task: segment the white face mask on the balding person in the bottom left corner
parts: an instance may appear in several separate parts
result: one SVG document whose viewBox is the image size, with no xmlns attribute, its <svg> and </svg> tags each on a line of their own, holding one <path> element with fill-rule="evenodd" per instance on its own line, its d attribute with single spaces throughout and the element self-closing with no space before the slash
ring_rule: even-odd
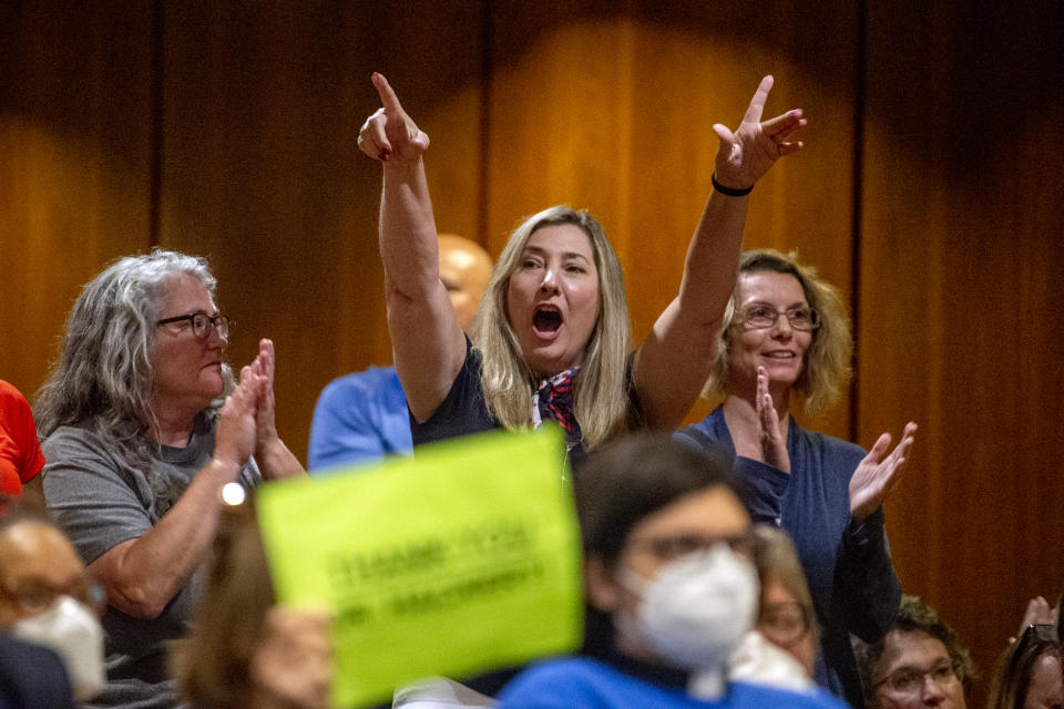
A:
<svg viewBox="0 0 1064 709">
<path fill-rule="evenodd" d="M 17 621 L 11 630 L 62 658 L 75 700 L 89 699 L 103 689 L 103 628 L 75 599 L 60 596 L 47 610 Z"/>
</svg>

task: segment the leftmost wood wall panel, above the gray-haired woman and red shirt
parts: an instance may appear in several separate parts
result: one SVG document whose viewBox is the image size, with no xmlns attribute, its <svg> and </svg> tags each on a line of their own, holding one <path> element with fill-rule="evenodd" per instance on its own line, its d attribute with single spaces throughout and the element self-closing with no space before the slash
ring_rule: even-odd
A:
<svg viewBox="0 0 1064 709">
<path fill-rule="evenodd" d="M 81 285 L 150 244 L 151 8 L 0 9 L 0 378 L 28 398 Z"/>
</svg>

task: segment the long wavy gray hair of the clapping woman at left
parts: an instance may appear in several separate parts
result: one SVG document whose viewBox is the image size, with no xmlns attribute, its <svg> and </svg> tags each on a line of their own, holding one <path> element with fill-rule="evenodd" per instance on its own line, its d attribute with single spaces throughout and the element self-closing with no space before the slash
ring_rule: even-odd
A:
<svg viewBox="0 0 1064 709">
<path fill-rule="evenodd" d="M 186 274 L 214 297 L 207 261 L 161 248 L 111 263 L 89 281 L 66 318 L 59 361 L 37 393 L 33 417 L 47 438 L 62 425 L 84 425 L 130 463 L 143 464 L 154 444 L 144 435 L 151 410 L 158 321 L 171 282 Z M 226 390 L 233 373 L 223 366 Z M 197 417 L 204 424 L 224 398 Z"/>
</svg>

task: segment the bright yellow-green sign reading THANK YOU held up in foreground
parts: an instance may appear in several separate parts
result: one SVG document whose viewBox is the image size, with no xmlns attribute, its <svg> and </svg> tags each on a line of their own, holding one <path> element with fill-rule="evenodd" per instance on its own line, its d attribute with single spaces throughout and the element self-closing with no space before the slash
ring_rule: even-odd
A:
<svg viewBox="0 0 1064 709">
<path fill-rule="evenodd" d="M 263 486 L 278 600 L 334 613 L 336 706 L 579 646 L 580 533 L 565 465 L 561 432 L 548 427 Z"/>
</svg>

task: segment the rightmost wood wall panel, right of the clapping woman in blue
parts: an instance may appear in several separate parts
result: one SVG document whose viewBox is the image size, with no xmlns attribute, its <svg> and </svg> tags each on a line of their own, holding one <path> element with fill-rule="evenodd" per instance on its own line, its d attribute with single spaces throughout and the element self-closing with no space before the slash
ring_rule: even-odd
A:
<svg viewBox="0 0 1064 709">
<path fill-rule="evenodd" d="M 1047 258 L 1064 246 L 1064 168 L 1045 160 L 1062 19 L 1052 2 L 869 14 L 860 430 L 921 423 L 888 504 L 896 563 L 988 674 L 1026 600 L 1064 579 Z"/>
</svg>

